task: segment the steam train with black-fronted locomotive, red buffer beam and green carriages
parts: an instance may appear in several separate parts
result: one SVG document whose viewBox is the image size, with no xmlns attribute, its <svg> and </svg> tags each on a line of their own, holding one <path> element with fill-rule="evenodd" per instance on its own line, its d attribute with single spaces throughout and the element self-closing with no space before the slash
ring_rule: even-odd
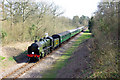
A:
<svg viewBox="0 0 120 80">
<path fill-rule="evenodd" d="M 63 44 L 65 41 L 69 40 L 70 38 L 74 37 L 84 30 L 85 27 L 82 26 L 76 29 L 41 38 L 39 41 L 35 40 L 35 42 L 28 47 L 28 60 L 40 60 L 41 58 L 45 57 L 53 50 L 55 50 L 57 47 L 60 47 L 61 44 Z"/>
</svg>

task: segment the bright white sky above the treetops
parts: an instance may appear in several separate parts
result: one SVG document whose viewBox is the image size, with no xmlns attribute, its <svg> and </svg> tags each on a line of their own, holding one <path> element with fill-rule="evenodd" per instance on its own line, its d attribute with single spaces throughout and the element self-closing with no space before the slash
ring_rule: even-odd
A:
<svg viewBox="0 0 120 80">
<path fill-rule="evenodd" d="M 101 0 L 41 0 L 54 2 L 63 9 L 63 16 L 73 18 L 73 16 L 81 15 L 91 17 L 92 13 L 97 10 L 97 4 Z"/>
</svg>

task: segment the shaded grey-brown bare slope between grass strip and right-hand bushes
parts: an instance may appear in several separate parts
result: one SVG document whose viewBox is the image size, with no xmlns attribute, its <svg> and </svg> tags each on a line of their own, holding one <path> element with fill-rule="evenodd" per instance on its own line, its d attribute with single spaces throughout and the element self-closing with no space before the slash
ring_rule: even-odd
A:
<svg viewBox="0 0 120 80">
<path fill-rule="evenodd" d="M 57 78 L 87 78 L 92 74 L 94 62 L 90 54 L 92 39 L 79 45 L 77 50 L 69 58 L 65 67 L 60 69 Z M 63 75 L 64 74 L 64 75 Z"/>
</svg>

